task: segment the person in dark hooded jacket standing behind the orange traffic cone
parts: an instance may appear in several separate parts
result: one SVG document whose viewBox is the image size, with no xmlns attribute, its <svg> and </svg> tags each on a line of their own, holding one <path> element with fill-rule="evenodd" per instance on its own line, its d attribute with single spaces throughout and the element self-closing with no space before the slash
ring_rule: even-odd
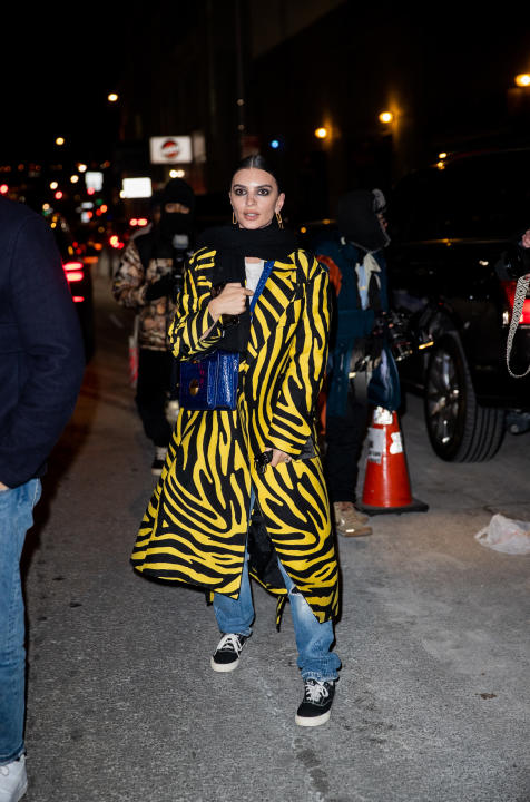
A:
<svg viewBox="0 0 530 802">
<path fill-rule="evenodd" d="M 335 237 L 316 246 L 330 272 L 333 326 L 325 412 L 326 479 L 335 526 L 344 537 L 372 534 L 355 507 L 359 460 L 369 422 L 369 384 L 381 360 L 387 312 L 385 198 L 356 189 L 338 199 Z"/>
</svg>

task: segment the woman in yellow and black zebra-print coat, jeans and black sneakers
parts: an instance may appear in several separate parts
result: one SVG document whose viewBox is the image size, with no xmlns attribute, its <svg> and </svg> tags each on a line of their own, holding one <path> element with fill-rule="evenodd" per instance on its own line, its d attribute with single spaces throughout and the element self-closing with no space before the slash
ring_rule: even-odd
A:
<svg viewBox="0 0 530 802">
<path fill-rule="evenodd" d="M 214 671 L 233 671 L 252 634 L 249 574 L 281 602 L 288 594 L 305 683 L 296 722 L 312 726 L 330 717 L 340 667 L 331 651 L 338 569 L 315 419 L 328 277 L 278 228 L 284 195 L 261 156 L 242 163 L 229 197 L 234 226 L 206 233 L 209 244 L 192 257 L 169 336 L 183 361 L 232 339 L 237 410 L 180 411 L 131 560 L 147 576 L 208 591 L 223 633 Z M 219 276 L 228 281 L 213 297 Z M 232 315 L 238 325 L 227 329 Z"/>
</svg>

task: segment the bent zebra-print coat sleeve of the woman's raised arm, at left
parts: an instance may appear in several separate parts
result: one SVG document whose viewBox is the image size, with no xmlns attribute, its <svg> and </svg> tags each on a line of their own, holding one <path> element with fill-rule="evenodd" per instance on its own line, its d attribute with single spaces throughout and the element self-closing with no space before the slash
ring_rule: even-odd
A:
<svg viewBox="0 0 530 802">
<path fill-rule="evenodd" d="M 220 319 L 214 324 L 208 312 L 212 299 L 210 268 L 214 253 L 202 248 L 195 253 L 187 265 L 183 292 L 179 295 L 177 312 L 169 326 L 169 345 L 175 356 L 186 362 L 218 345 L 224 331 Z M 208 329 L 212 331 L 204 336 Z"/>
</svg>

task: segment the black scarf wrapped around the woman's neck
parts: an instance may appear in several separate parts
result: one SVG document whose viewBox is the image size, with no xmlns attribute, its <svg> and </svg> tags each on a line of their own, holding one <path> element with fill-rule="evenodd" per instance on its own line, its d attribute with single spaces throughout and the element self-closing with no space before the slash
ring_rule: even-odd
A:
<svg viewBox="0 0 530 802">
<path fill-rule="evenodd" d="M 266 228 L 238 228 L 236 226 L 215 226 L 207 228 L 197 243 L 198 247 L 215 248 L 213 284 L 239 282 L 245 286 L 245 258 L 254 256 L 265 262 L 286 262 L 298 247 L 293 233 L 271 224 Z M 223 349 L 245 353 L 251 332 L 249 305 L 238 315 L 237 325 L 225 331 Z"/>
</svg>

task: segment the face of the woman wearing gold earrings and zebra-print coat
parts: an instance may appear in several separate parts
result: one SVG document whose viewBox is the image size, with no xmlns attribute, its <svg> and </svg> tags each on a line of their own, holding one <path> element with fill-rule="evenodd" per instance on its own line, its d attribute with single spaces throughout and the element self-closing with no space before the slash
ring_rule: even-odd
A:
<svg viewBox="0 0 530 802">
<path fill-rule="evenodd" d="M 271 173 L 251 167 L 238 170 L 229 192 L 239 228 L 264 228 L 284 205 L 285 195 Z"/>
</svg>

